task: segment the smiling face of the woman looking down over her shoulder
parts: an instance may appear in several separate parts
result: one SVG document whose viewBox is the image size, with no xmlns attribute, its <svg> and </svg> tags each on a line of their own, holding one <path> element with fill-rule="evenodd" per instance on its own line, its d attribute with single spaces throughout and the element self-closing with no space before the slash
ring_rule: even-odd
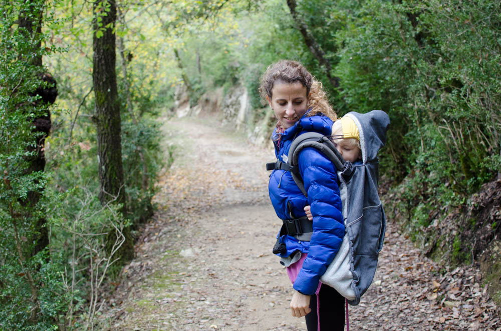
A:
<svg viewBox="0 0 501 331">
<path fill-rule="evenodd" d="M 275 82 L 272 97 L 267 95 L 266 99 L 284 129 L 293 126 L 305 114 L 308 106 L 306 87 L 299 81 Z"/>
</svg>

